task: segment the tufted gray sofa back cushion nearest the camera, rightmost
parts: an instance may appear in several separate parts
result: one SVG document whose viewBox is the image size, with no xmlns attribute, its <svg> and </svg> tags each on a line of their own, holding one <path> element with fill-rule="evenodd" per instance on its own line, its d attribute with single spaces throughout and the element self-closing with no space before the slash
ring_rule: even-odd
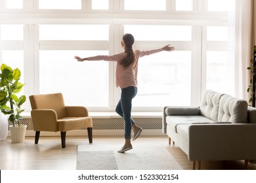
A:
<svg viewBox="0 0 256 183">
<path fill-rule="evenodd" d="M 247 101 L 223 95 L 219 105 L 218 122 L 247 123 L 247 107 Z"/>
</svg>

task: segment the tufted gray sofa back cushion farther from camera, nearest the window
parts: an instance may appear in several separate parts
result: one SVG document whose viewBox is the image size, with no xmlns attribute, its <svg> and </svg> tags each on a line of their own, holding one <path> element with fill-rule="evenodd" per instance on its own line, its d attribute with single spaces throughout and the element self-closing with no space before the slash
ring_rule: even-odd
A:
<svg viewBox="0 0 256 183">
<path fill-rule="evenodd" d="M 201 102 L 201 115 L 218 121 L 218 112 L 219 112 L 219 102 L 223 93 L 213 92 L 212 90 L 206 90 L 203 93 L 202 102 Z"/>
</svg>

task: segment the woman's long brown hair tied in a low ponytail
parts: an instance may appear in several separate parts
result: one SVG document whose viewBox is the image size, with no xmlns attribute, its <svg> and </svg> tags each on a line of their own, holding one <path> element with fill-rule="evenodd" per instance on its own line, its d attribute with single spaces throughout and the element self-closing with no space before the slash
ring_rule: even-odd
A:
<svg viewBox="0 0 256 183">
<path fill-rule="evenodd" d="M 120 65 L 123 66 L 123 68 L 127 68 L 129 67 L 131 64 L 135 63 L 135 51 L 133 50 L 133 43 L 134 43 L 135 39 L 133 37 L 133 35 L 131 34 L 125 34 L 123 35 L 123 43 L 125 44 L 125 53 L 127 54 L 127 56 L 125 56 L 125 58 L 123 58 L 120 61 Z"/>
</svg>

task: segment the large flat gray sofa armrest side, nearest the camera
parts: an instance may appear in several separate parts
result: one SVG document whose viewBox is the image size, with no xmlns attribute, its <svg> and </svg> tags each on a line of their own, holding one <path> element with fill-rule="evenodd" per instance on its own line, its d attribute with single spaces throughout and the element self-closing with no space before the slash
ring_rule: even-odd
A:
<svg viewBox="0 0 256 183">
<path fill-rule="evenodd" d="M 256 159 L 256 124 L 194 124 L 188 129 L 188 159 Z"/>
</svg>

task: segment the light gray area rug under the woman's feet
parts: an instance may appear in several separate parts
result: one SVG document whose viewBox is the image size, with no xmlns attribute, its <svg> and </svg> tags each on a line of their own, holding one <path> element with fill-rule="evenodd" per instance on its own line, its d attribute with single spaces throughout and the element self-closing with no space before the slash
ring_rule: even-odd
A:
<svg viewBox="0 0 256 183">
<path fill-rule="evenodd" d="M 116 151 L 113 151 L 116 149 Z M 165 146 L 144 146 L 125 153 L 109 146 L 103 149 L 97 144 L 77 146 L 77 169 L 119 170 L 182 170 L 181 165 Z"/>
</svg>

